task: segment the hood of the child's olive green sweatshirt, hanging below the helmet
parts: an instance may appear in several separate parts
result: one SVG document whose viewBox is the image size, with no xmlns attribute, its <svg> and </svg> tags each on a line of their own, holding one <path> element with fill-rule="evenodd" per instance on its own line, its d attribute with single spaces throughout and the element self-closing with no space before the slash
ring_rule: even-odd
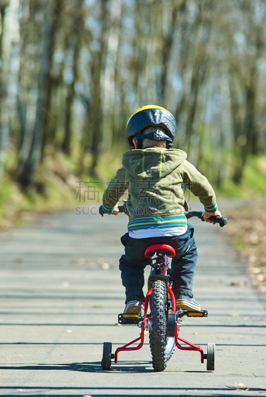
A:
<svg viewBox="0 0 266 397">
<path fill-rule="evenodd" d="M 161 179 L 172 173 L 185 159 L 183 150 L 150 147 L 125 152 L 122 165 L 136 179 Z"/>
</svg>

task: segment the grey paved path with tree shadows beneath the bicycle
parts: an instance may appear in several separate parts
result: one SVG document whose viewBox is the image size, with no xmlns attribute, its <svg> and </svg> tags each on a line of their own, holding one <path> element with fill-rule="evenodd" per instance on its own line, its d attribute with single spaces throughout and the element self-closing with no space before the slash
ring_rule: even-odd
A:
<svg viewBox="0 0 266 397">
<path fill-rule="evenodd" d="M 194 294 L 209 317 L 185 319 L 180 336 L 204 351 L 215 342 L 215 371 L 176 350 L 154 372 L 148 337 L 101 370 L 103 341 L 114 350 L 139 335 L 116 325 L 126 221 L 73 211 L 0 233 L 0 396 L 266 396 L 266 299 L 225 231 L 197 219 Z"/>
</svg>

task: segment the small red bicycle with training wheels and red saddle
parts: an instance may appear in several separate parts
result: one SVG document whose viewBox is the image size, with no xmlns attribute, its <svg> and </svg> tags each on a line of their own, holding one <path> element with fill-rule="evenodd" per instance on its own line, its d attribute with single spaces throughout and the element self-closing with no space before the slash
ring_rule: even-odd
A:
<svg viewBox="0 0 266 397">
<path fill-rule="evenodd" d="M 126 200 L 124 205 L 118 206 L 119 212 L 127 214 Z M 99 213 L 103 216 L 103 209 L 99 208 Z M 186 214 L 187 219 L 198 217 L 202 221 L 202 211 L 191 211 Z M 227 217 L 223 215 L 212 216 L 212 221 L 217 222 L 221 227 L 227 224 Z M 200 346 L 181 338 L 179 336 L 180 324 L 182 317 L 207 317 L 208 312 L 184 311 L 176 308 L 176 300 L 172 292 L 171 270 L 169 268 L 168 258 L 173 258 L 176 251 L 173 247 L 166 244 L 155 244 L 147 247 L 145 257 L 151 259 L 152 270 L 148 278 L 148 292 L 144 301 L 144 315 L 137 314 L 119 314 L 118 324 L 138 325 L 141 329 L 140 336 L 125 345 L 118 347 L 115 353 L 112 353 L 112 343 L 103 343 L 103 352 L 101 367 L 108 371 L 111 368 L 111 360 L 117 363 L 118 353 L 121 351 L 138 350 L 143 346 L 145 331 L 149 332 L 149 344 L 152 355 L 152 365 L 155 371 L 164 371 L 167 362 L 172 357 L 175 347 L 180 350 L 199 351 L 201 363 L 207 361 L 207 371 L 214 371 L 215 343 L 207 343 L 207 353 L 203 353 Z M 150 306 L 150 313 L 148 307 Z M 139 342 L 137 346 L 132 346 Z M 182 342 L 183 344 L 180 344 Z"/>
</svg>

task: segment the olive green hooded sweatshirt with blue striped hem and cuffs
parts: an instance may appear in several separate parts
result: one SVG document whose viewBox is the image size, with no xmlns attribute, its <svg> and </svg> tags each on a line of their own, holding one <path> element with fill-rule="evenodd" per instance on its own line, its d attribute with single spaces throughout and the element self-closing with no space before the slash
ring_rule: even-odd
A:
<svg viewBox="0 0 266 397">
<path fill-rule="evenodd" d="M 126 151 L 122 167 L 103 193 L 102 206 L 105 212 L 112 212 L 128 190 L 128 231 L 184 226 L 188 211 L 184 185 L 199 198 L 205 211 L 218 208 L 213 188 L 186 160 L 184 151 L 160 147 Z"/>
</svg>

